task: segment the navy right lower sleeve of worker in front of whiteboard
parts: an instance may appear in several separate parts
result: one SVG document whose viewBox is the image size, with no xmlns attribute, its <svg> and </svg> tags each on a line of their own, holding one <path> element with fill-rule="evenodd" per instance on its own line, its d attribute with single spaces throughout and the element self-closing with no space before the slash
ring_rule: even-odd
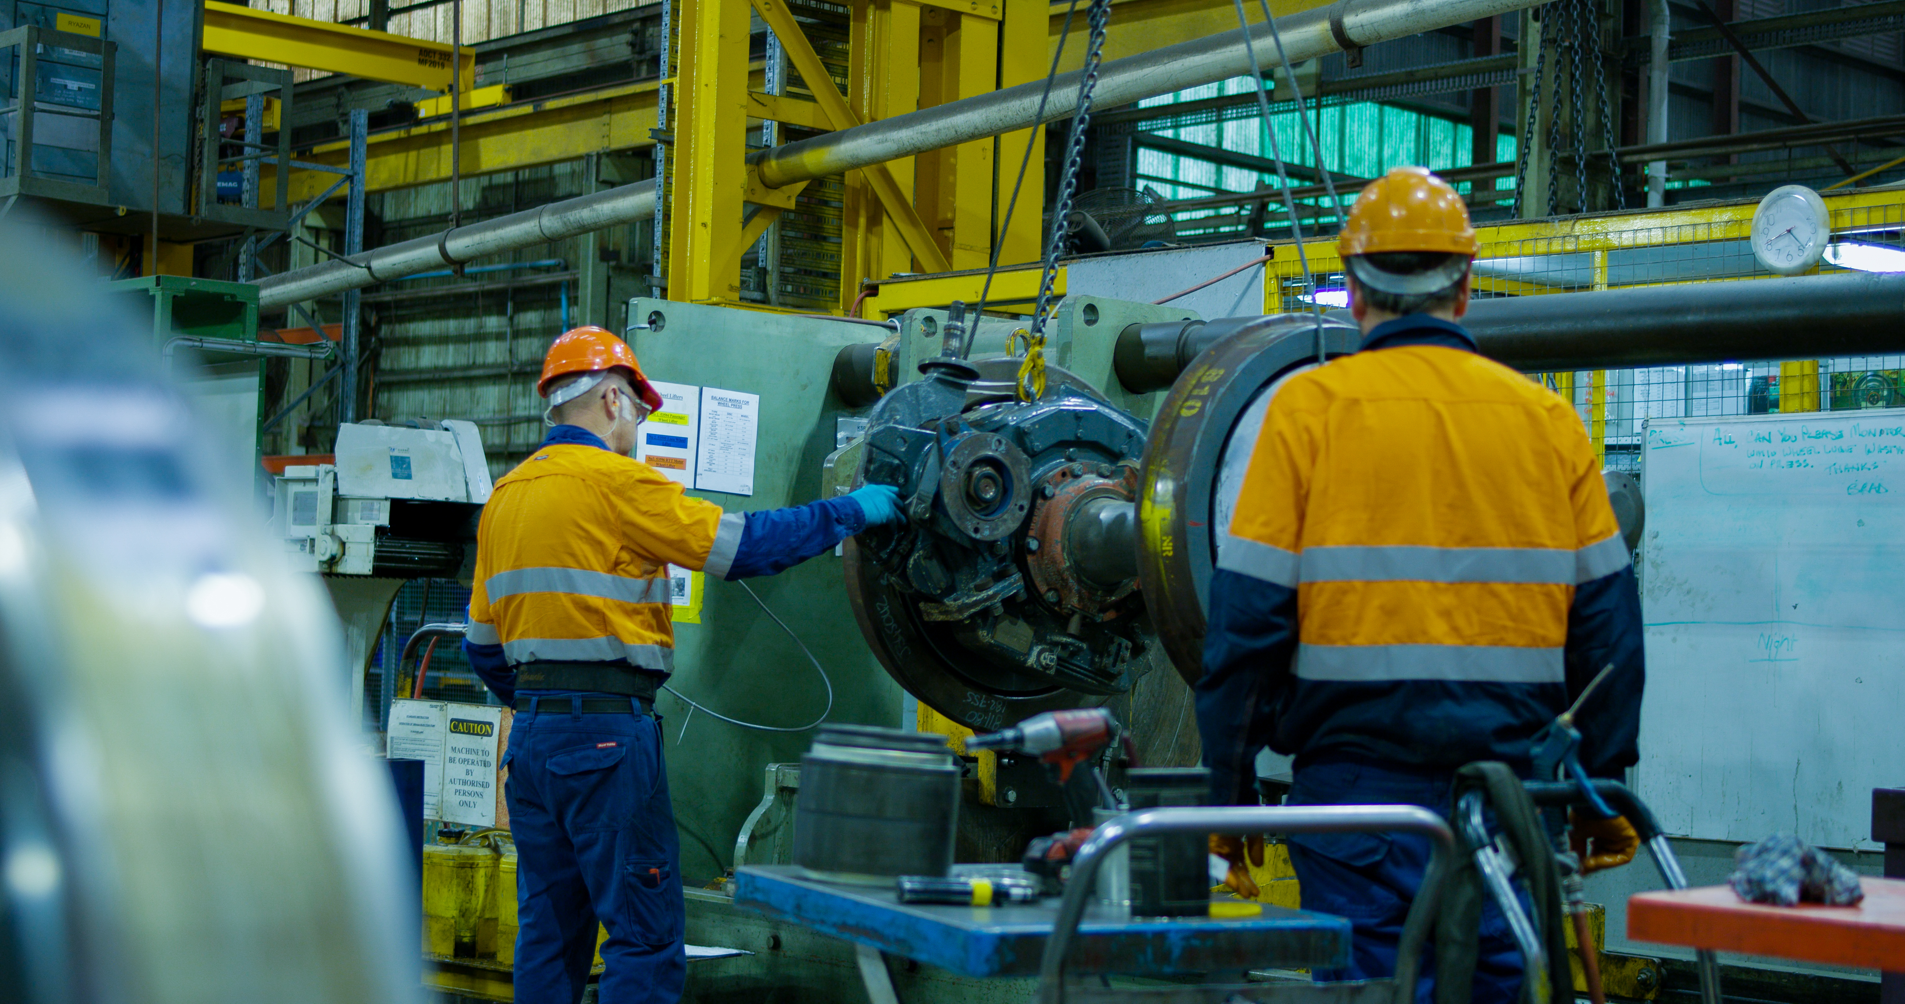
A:
<svg viewBox="0 0 1905 1004">
<path fill-rule="evenodd" d="M 1574 703 L 1602 667 L 1614 673 L 1594 688 L 1574 724 L 1581 730 L 1581 766 L 1593 777 L 1619 779 L 1640 760 L 1640 692 L 1648 682 L 1634 568 L 1574 589 L 1568 610 L 1568 701 Z"/>
</svg>

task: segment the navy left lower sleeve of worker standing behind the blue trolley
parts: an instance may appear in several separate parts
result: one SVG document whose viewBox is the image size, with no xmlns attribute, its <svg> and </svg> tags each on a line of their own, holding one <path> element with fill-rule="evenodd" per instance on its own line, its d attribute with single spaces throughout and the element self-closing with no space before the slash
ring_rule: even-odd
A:
<svg viewBox="0 0 1905 1004">
<path fill-rule="evenodd" d="M 1269 745 L 1295 648 L 1295 589 L 1225 570 L 1212 575 L 1204 676 L 1194 690 L 1213 806 L 1257 804 L 1257 751 Z"/>
</svg>

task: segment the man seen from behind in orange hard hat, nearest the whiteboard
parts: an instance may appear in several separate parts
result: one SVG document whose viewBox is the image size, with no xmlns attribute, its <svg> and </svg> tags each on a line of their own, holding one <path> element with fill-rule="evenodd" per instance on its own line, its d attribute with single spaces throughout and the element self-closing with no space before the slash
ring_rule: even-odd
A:
<svg viewBox="0 0 1905 1004">
<path fill-rule="evenodd" d="M 1255 442 L 1233 444 L 1250 469 L 1219 535 L 1196 684 L 1213 796 L 1255 802 L 1269 749 L 1295 758 L 1290 804 L 1446 813 L 1465 764 L 1528 777 L 1534 735 L 1604 667 L 1575 713 L 1579 760 L 1621 777 L 1638 758 L 1640 596 L 1579 415 L 1457 324 L 1476 238 L 1448 183 L 1423 168 L 1372 181 L 1337 250 L 1362 349 L 1290 377 Z M 1574 836 L 1587 871 L 1638 848 L 1619 817 L 1575 819 Z M 1213 850 L 1248 892 L 1246 840 Z M 1290 857 L 1303 907 L 1354 930 L 1351 964 L 1316 977 L 1393 975 L 1427 838 L 1297 834 Z M 1520 985 L 1488 903 L 1473 996 L 1444 991 L 1509 1004 Z"/>
</svg>

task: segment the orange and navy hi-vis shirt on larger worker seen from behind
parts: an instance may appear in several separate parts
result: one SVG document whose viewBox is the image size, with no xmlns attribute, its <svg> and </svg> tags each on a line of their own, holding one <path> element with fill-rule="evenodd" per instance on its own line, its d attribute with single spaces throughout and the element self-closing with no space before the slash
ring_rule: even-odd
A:
<svg viewBox="0 0 1905 1004">
<path fill-rule="evenodd" d="M 1574 408 L 1412 314 L 1278 389 L 1210 587 L 1198 728 L 1217 798 L 1265 745 L 1505 760 L 1602 671 L 1581 764 L 1638 758 L 1640 596 Z"/>
</svg>

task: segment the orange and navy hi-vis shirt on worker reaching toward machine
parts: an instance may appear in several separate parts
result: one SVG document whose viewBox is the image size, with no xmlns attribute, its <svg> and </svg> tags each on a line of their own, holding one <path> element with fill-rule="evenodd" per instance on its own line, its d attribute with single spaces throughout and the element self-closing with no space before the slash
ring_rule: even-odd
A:
<svg viewBox="0 0 1905 1004">
<path fill-rule="evenodd" d="M 463 650 L 503 701 L 514 699 L 511 667 L 524 663 L 619 663 L 667 676 L 667 566 L 772 575 L 865 526 L 848 497 L 722 512 L 594 432 L 558 425 L 484 505 Z"/>
</svg>

